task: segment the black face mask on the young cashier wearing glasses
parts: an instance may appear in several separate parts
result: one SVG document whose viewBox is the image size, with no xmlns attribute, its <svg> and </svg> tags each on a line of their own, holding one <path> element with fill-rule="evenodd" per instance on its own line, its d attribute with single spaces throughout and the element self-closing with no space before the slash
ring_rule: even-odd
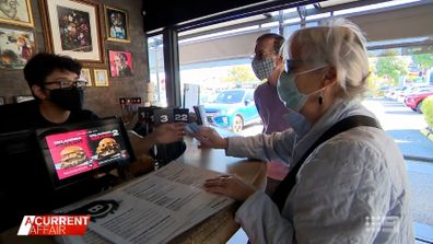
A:
<svg viewBox="0 0 433 244">
<path fill-rule="evenodd" d="M 50 91 L 49 100 L 66 111 L 80 111 L 83 108 L 84 94 L 79 88 L 55 89 Z"/>
</svg>

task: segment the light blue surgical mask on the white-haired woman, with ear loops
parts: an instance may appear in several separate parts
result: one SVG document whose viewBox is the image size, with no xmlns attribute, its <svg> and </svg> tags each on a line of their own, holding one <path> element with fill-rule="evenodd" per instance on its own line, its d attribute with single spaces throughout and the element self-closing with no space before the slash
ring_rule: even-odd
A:
<svg viewBox="0 0 433 244">
<path fill-rule="evenodd" d="M 281 73 L 280 79 L 278 80 L 277 83 L 277 92 L 278 95 L 280 96 L 281 102 L 284 103 L 285 107 L 295 112 L 300 112 L 301 108 L 305 105 L 305 102 L 307 101 L 308 96 L 316 94 L 325 89 L 323 88 L 309 94 L 303 94 L 300 91 L 297 91 L 296 84 L 294 82 L 296 77 L 323 69 L 326 66 L 320 66 L 318 68 L 305 70 L 299 73 L 288 73 L 285 71 Z"/>
</svg>

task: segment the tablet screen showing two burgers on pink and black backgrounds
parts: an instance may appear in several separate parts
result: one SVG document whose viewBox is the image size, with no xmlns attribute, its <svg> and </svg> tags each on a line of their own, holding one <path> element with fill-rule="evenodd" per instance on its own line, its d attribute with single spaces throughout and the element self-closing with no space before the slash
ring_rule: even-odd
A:
<svg viewBox="0 0 433 244">
<path fill-rule="evenodd" d="M 57 186 L 133 158 L 125 128 L 116 118 L 43 129 L 37 135 Z"/>
</svg>

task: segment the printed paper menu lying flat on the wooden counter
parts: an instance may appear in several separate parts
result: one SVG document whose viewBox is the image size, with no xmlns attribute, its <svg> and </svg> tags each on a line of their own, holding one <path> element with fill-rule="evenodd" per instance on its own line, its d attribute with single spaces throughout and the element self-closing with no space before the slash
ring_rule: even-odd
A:
<svg viewBox="0 0 433 244">
<path fill-rule="evenodd" d="M 230 206 L 230 198 L 206 193 L 216 172 L 172 162 L 115 190 L 58 212 L 92 216 L 89 230 L 113 243 L 166 243 Z"/>
</svg>

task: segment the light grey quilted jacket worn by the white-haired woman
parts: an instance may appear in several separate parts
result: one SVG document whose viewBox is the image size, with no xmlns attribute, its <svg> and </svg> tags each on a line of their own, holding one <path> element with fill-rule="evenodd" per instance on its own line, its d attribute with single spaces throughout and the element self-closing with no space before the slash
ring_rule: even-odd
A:
<svg viewBox="0 0 433 244">
<path fill-rule="evenodd" d="M 294 130 L 230 138 L 227 155 L 296 163 L 337 121 L 374 115 L 359 102 L 339 102 L 295 141 Z M 296 128 L 295 128 L 296 129 Z M 237 210 L 236 221 L 251 243 L 414 242 L 405 161 L 396 143 L 377 128 L 342 132 L 308 156 L 282 213 L 262 191 Z"/>
</svg>

